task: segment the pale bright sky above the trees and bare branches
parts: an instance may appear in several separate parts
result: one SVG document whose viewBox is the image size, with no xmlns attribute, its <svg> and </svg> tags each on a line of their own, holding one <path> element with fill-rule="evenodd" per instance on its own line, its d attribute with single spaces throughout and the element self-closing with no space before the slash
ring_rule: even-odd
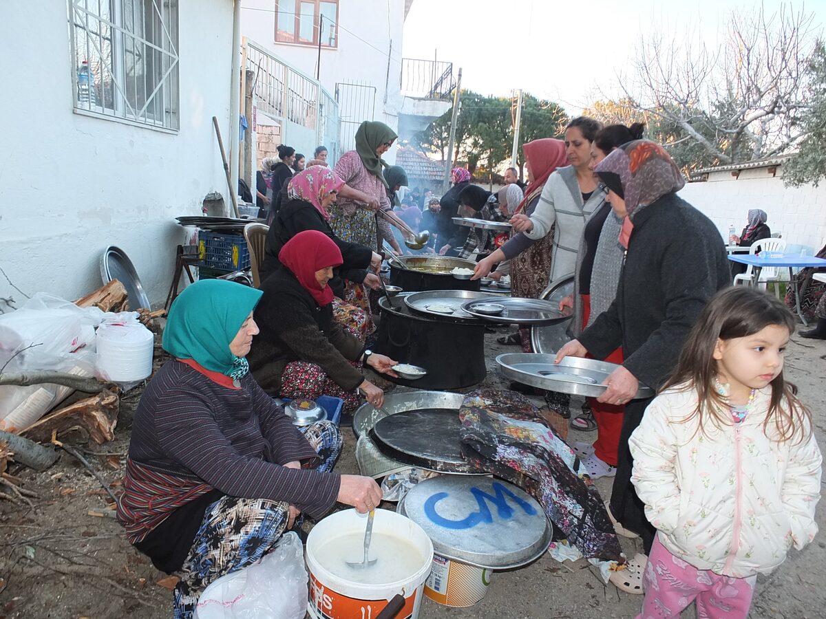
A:
<svg viewBox="0 0 826 619">
<path fill-rule="evenodd" d="M 781 4 L 763 2 L 767 13 Z M 812 27 L 823 34 L 826 0 L 786 4 L 814 13 Z M 643 32 L 676 42 L 701 37 L 713 48 L 732 13 L 758 6 L 743 0 L 414 0 L 402 55 L 453 62 L 454 73 L 463 69 L 463 89 L 509 97 L 522 88 L 572 114 L 621 96 L 618 76 L 631 68 Z"/>
</svg>

